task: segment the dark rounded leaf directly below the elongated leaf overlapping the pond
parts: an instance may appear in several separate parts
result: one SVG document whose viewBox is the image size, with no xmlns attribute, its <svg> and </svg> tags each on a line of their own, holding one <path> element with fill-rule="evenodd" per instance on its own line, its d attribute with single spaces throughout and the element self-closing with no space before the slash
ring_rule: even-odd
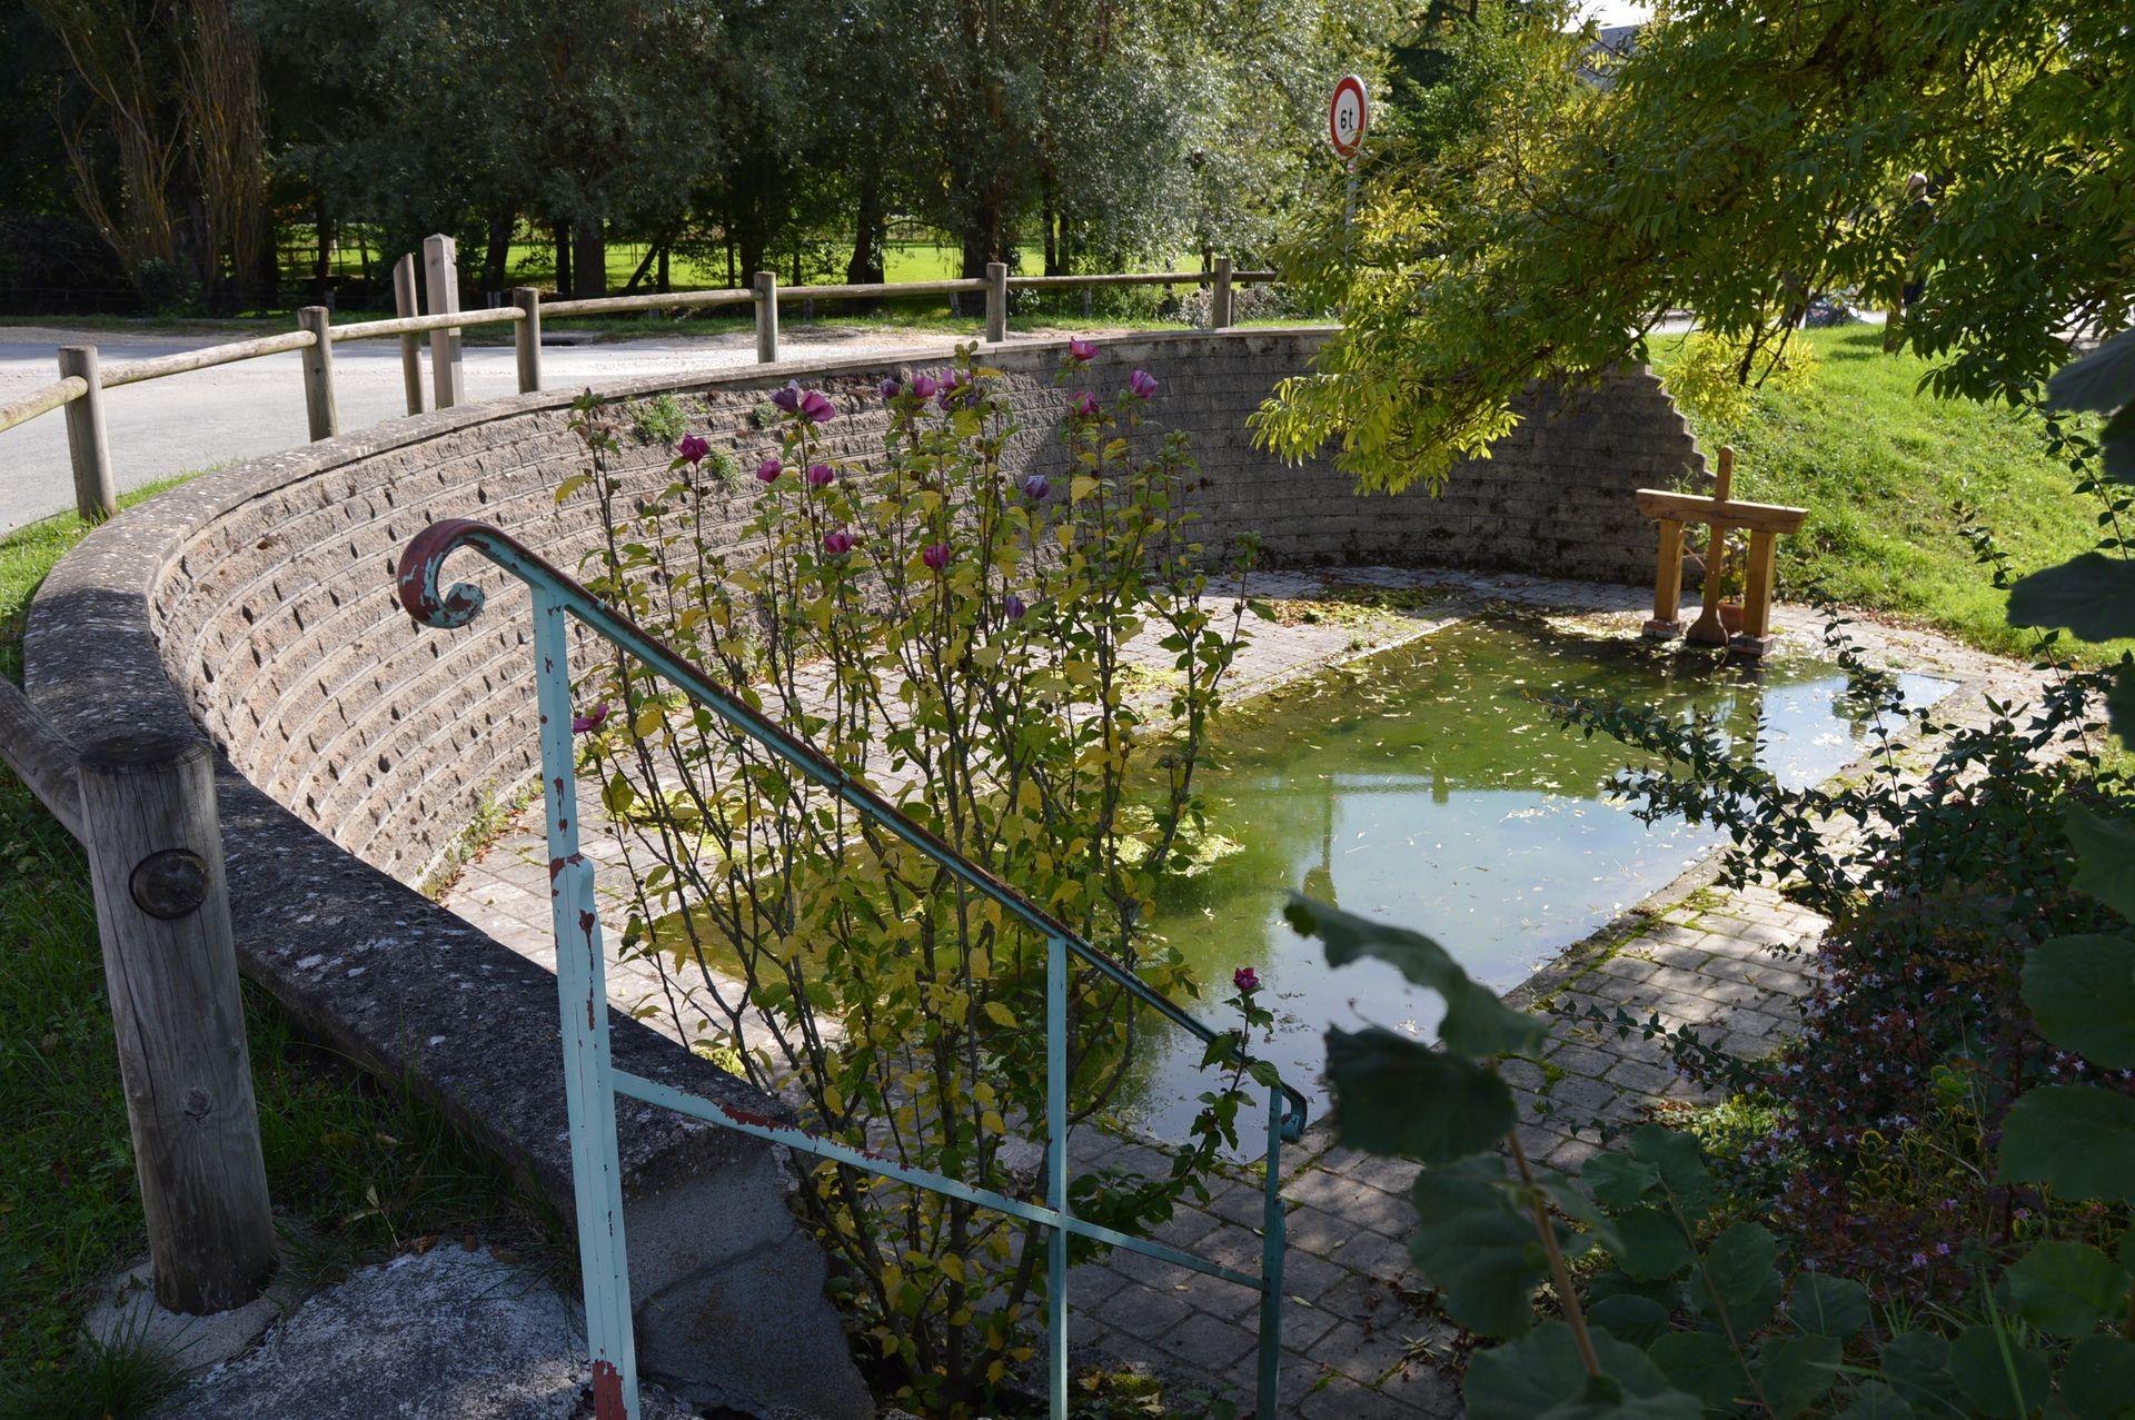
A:
<svg viewBox="0 0 2135 1420">
<path fill-rule="evenodd" d="M 1518 1119 L 1512 1087 L 1473 1059 L 1398 1031 L 1328 1031 L 1341 1138 L 1364 1153 L 1452 1164 L 1482 1153 Z"/>
</svg>

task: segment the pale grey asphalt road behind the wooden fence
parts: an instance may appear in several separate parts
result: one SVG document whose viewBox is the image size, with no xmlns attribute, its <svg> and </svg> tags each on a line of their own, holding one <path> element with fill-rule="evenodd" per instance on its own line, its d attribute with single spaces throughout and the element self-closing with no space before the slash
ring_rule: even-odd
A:
<svg viewBox="0 0 2135 1420">
<path fill-rule="evenodd" d="M 0 329 L 0 404 L 53 382 L 53 350 L 96 344 L 105 365 L 218 344 L 213 335 L 102 337 L 81 331 Z M 948 352 L 952 340 L 895 331 L 790 331 L 781 346 L 809 354 Z M 655 374 L 685 374 L 756 359 L 749 331 L 687 340 L 632 340 L 542 348 L 542 384 L 566 389 Z M 303 444 L 301 354 L 269 354 L 237 365 L 143 380 L 105 393 L 111 474 L 122 489 L 280 453 Z M 510 346 L 468 346 L 468 399 L 517 393 Z M 427 378 L 427 372 L 425 372 Z M 342 433 L 406 416 L 399 342 L 365 340 L 333 348 L 333 391 Z M 0 532 L 75 506 L 66 459 L 66 416 L 58 410 L 0 431 Z"/>
</svg>

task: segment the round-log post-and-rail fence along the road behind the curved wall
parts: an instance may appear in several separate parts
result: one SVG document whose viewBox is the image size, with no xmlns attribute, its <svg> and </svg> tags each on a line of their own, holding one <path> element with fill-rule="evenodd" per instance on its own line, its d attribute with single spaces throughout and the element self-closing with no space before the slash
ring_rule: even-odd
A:
<svg viewBox="0 0 2135 1420">
<path fill-rule="evenodd" d="M 692 310 L 717 305 L 752 305 L 756 310 L 756 359 L 773 363 L 779 359 L 779 303 L 803 301 L 884 301 L 912 297 L 948 297 L 950 310 L 959 310 L 956 297 L 984 297 L 984 337 L 991 344 L 1008 340 L 1008 293 L 1010 290 L 1082 290 L 1082 312 L 1089 314 L 1087 293 L 1106 286 L 1208 286 L 1208 329 L 1232 325 L 1232 293 L 1236 286 L 1279 280 L 1275 271 L 1238 271 L 1230 256 L 1217 256 L 1208 271 L 1110 271 L 1089 275 L 1010 275 L 1003 263 L 989 263 L 982 278 L 950 278 L 939 282 L 873 282 L 843 286 L 779 286 L 771 271 L 758 271 L 745 288 L 728 290 L 666 290 L 647 295 L 617 295 L 591 299 L 549 299 L 534 286 L 512 290 L 510 305 L 493 310 L 459 310 L 459 261 L 448 237 L 423 241 L 421 261 L 423 286 L 429 295 L 431 314 L 416 314 L 418 263 L 414 254 L 401 256 L 393 267 L 393 295 L 399 316 L 389 320 L 352 320 L 333 325 L 333 314 L 322 305 L 305 305 L 297 312 L 295 331 L 282 335 L 260 335 L 237 340 L 201 350 L 177 350 L 145 361 L 100 367 L 96 346 L 66 346 L 58 352 L 60 380 L 47 384 L 13 404 L 0 406 L 0 431 L 28 423 L 51 410 L 66 412 L 66 448 L 75 472 L 75 510 L 83 519 L 105 519 L 117 512 L 117 489 L 111 478 L 111 453 L 105 438 L 102 393 L 143 380 L 160 380 L 192 369 L 213 369 L 237 361 L 256 361 L 269 354 L 303 354 L 303 404 L 312 440 L 339 433 L 339 406 L 333 395 L 333 346 L 352 340 L 399 340 L 401 384 L 410 414 L 425 408 L 450 408 L 461 401 L 461 348 L 459 333 L 472 325 L 515 325 L 517 380 L 519 393 L 540 391 L 540 327 L 542 316 L 604 316 L 621 312 Z M 429 335 L 431 386 L 425 395 L 423 342 Z"/>
</svg>

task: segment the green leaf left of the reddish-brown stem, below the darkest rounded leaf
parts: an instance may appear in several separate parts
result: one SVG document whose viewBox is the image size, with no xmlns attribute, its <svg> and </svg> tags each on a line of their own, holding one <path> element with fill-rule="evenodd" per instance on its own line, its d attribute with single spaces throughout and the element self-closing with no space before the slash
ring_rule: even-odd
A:
<svg viewBox="0 0 2135 1420">
<path fill-rule="evenodd" d="M 1439 1290 L 1445 1315 L 1482 1337 L 1518 1337 L 1533 1326 L 1535 1288 L 1548 1273 L 1535 1219 L 1501 1179 L 1503 1166 L 1486 1157 L 1426 1168 L 1413 1189 L 1409 1258 Z"/>
</svg>

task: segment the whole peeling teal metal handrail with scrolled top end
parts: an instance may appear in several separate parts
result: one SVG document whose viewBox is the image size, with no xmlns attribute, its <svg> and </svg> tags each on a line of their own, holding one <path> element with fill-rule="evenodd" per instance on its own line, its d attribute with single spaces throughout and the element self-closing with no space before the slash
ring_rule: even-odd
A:
<svg viewBox="0 0 2135 1420">
<path fill-rule="evenodd" d="M 1277 1080 L 1268 1089 L 1268 1151 L 1264 1157 L 1260 1275 L 1238 1273 L 1204 1258 L 1082 1221 L 1068 1211 L 1068 959 L 1093 965 L 1172 1025 L 1213 1044 L 1219 1031 L 1166 999 L 1125 965 L 1078 937 L 1012 886 L 971 863 L 950 843 L 912 822 L 897 805 L 867 788 L 835 760 L 709 679 L 658 636 L 608 609 L 579 581 L 527 551 L 517 538 L 472 519 L 446 519 L 418 532 L 401 555 L 401 606 L 421 626 L 450 630 L 483 611 L 483 589 L 453 583 L 440 591 L 444 559 L 468 547 L 527 585 L 534 596 L 534 694 L 540 711 L 542 805 L 549 833 L 549 882 L 555 927 L 555 989 L 564 1029 L 564 1104 L 570 1117 L 570 1181 L 576 1200 L 579 1258 L 585 1283 L 585 1341 L 594 1362 L 598 1420 L 638 1420 L 636 1352 L 630 1320 L 630 1271 L 623 1247 L 621 1166 L 615 1149 L 615 1098 L 643 1100 L 692 1119 L 784 1145 L 820 1159 L 976 1202 L 1053 1230 L 1046 1266 L 1046 1341 L 1053 1420 L 1068 1416 L 1068 1238 L 1082 1236 L 1174 1266 L 1219 1277 L 1260 1292 L 1258 1416 L 1275 1420 L 1275 1392 L 1283 1345 L 1283 1198 L 1281 1142 L 1304 1134 L 1307 1102 Z M 670 1085 L 617 1070 L 608 1057 L 606 961 L 600 948 L 600 912 L 594 901 L 594 865 L 579 852 L 579 777 L 570 735 L 570 647 L 566 617 L 664 675 L 677 690 L 743 730 L 820 788 L 920 850 L 959 882 L 1001 905 L 1046 940 L 1046 1202 L 1033 1204 L 971 1187 L 920 1168 L 905 1168 L 764 1115 L 700 1100 Z M 1243 1061 L 1243 1055 L 1238 1057 Z"/>
</svg>

